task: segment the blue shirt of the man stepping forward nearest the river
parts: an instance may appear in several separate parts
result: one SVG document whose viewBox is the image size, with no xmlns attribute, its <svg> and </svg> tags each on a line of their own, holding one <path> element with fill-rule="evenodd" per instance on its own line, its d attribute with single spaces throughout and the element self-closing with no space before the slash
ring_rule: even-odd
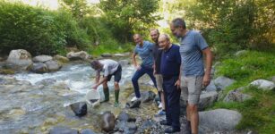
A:
<svg viewBox="0 0 275 134">
<path fill-rule="evenodd" d="M 139 54 L 142 58 L 142 65 L 146 67 L 152 67 L 153 65 L 153 44 L 149 41 L 143 41 L 143 46 L 136 45 L 134 54 Z"/>
</svg>

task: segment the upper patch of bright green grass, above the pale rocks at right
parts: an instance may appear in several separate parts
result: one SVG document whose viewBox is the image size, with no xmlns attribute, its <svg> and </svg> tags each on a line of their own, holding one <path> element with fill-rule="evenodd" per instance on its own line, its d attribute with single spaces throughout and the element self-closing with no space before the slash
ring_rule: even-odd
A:
<svg viewBox="0 0 275 134">
<path fill-rule="evenodd" d="M 275 54 L 247 51 L 245 54 L 224 60 L 218 66 L 218 75 L 234 80 L 256 80 L 275 74 Z"/>
</svg>

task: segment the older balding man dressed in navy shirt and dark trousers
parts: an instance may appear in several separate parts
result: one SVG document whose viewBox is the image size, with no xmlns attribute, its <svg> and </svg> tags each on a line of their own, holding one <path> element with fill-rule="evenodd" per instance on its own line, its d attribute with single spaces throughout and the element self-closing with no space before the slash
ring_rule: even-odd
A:
<svg viewBox="0 0 275 134">
<path fill-rule="evenodd" d="M 180 131 L 179 99 L 180 89 L 180 65 L 181 56 L 179 54 L 179 46 L 170 43 L 167 34 L 159 36 L 159 46 L 163 48 L 161 55 L 160 73 L 163 77 L 163 89 L 166 104 L 166 121 L 160 121 L 161 125 L 171 126 L 165 130 L 166 133 L 174 133 Z"/>
</svg>

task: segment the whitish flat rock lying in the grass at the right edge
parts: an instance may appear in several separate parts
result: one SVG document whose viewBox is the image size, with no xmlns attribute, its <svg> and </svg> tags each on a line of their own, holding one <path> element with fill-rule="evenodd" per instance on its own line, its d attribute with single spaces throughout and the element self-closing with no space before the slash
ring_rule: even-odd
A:
<svg viewBox="0 0 275 134">
<path fill-rule="evenodd" d="M 263 90 L 272 90 L 275 88 L 274 82 L 269 80 L 254 80 L 250 85 L 256 88 L 262 88 Z"/>
</svg>

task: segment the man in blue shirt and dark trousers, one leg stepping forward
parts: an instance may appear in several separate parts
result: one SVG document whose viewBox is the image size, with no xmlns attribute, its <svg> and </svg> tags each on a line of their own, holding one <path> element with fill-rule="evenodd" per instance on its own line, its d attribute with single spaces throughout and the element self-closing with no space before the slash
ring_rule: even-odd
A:
<svg viewBox="0 0 275 134">
<path fill-rule="evenodd" d="M 135 96 L 132 98 L 131 101 L 141 100 L 141 93 L 140 88 L 138 84 L 138 80 L 146 73 L 150 76 L 150 79 L 153 81 L 155 88 L 157 88 L 156 85 L 156 79 L 153 75 L 153 44 L 149 41 L 143 41 L 142 36 L 140 34 L 133 35 L 133 41 L 136 43 L 136 46 L 133 51 L 133 65 L 136 68 L 135 73 L 133 74 L 132 82 L 133 82 L 133 88 Z M 135 57 L 139 54 L 142 58 L 142 64 L 139 65 Z"/>
</svg>

